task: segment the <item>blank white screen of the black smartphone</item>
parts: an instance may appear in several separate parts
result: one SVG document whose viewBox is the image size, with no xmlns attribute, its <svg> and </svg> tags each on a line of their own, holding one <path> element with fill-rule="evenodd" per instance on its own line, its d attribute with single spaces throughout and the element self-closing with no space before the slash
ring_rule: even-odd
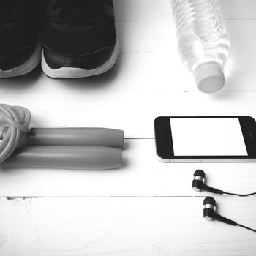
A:
<svg viewBox="0 0 256 256">
<path fill-rule="evenodd" d="M 238 118 L 170 118 L 175 156 L 248 156 Z"/>
</svg>

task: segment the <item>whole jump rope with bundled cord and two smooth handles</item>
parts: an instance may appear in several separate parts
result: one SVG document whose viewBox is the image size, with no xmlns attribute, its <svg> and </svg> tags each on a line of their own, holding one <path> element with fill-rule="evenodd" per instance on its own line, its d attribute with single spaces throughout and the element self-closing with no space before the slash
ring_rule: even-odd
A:
<svg viewBox="0 0 256 256">
<path fill-rule="evenodd" d="M 31 113 L 0 104 L 0 167 L 106 170 L 122 166 L 124 132 L 105 128 L 30 128 Z"/>
</svg>

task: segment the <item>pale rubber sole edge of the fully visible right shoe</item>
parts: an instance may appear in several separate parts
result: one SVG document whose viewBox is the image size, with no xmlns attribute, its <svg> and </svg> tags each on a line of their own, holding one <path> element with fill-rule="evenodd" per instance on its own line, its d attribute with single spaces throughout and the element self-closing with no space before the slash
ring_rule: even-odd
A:
<svg viewBox="0 0 256 256">
<path fill-rule="evenodd" d="M 113 50 L 113 53 L 108 59 L 108 61 L 105 62 L 100 67 L 97 67 L 96 69 L 86 70 L 76 67 L 61 67 L 59 69 L 51 69 L 48 64 L 45 61 L 44 54 L 42 53 L 42 71 L 50 78 L 87 78 L 94 75 L 100 75 L 108 70 L 110 70 L 113 65 L 116 63 L 119 55 L 119 41 L 116 39 L 116 45 Z"/>
</svg>

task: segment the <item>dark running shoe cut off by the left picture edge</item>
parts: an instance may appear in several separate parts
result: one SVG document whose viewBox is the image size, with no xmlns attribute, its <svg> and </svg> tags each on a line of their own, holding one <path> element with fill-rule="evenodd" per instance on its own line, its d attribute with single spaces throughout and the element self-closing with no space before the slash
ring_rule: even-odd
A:
<svg viewBox="0 0 256 256">
<path fill-rule="evenodd" d="M 37 1 L 0 0 L 0 78 L 31 72 L 41 59 Z"/>
</svg>

